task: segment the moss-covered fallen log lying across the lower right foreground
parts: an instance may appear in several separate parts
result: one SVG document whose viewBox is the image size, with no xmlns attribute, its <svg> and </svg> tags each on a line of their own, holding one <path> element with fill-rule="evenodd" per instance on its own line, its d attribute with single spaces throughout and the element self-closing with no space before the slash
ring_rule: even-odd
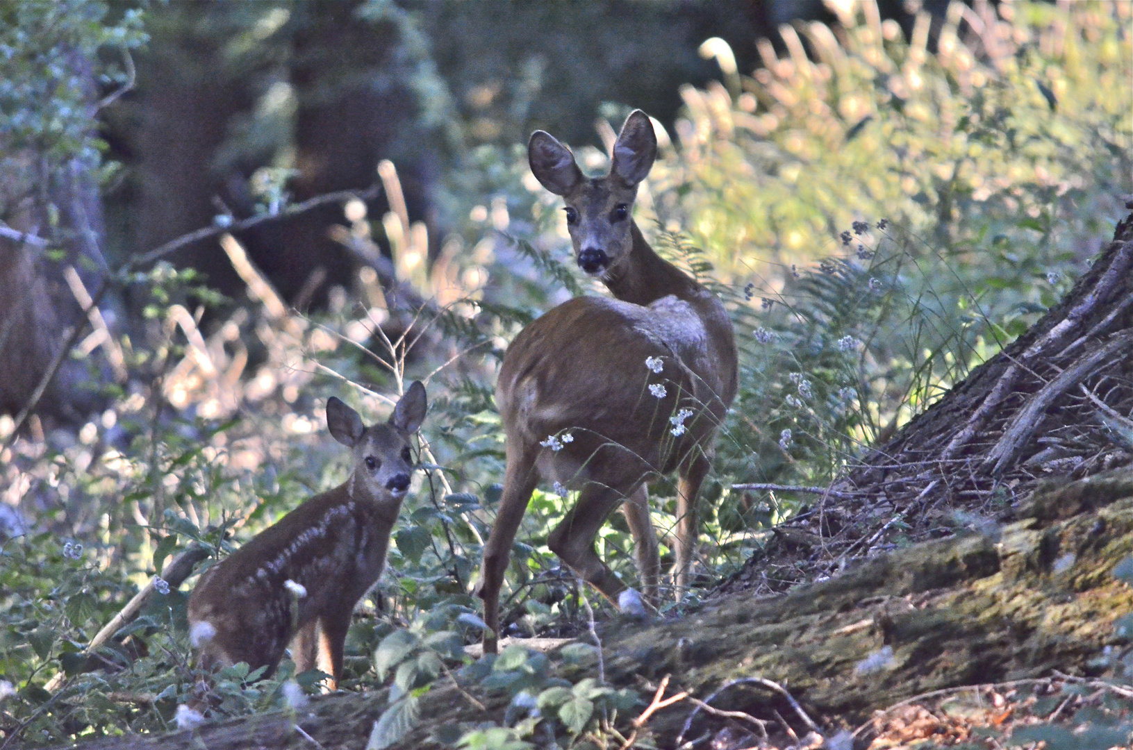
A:
<svg viewBox="0 0 1133 750">
<path fill-rule="evenodd" d="M 995 536 L 912 545 L 785 595 L 741 593 L 680 619 L 607 623 L 607 676 L 637 685 L 670 674 L 671 689 L 701 698 L 731 680 L 760 676 L 784 685 L 833 732 L 943 688 L 1053 670 L 1104 673 L 1098 657 L 1122 642 L 1114 622 L 1133 612 L 1133 590 L 1110 574 L 1133 554 L 1133 469 L 1040 486 L 1019 517 Z M 868 664 L 875 668 L 862 668 Z M 477 697 L 487 714 L 451 683 L 428 693 L 419 726 L 397 747 L 432 747 L 432 733 L 445 725 L 500 721 L 506 700 Z M 770 698 L 731 690 L 714 705 L 766 715 Z M 298 724 L 326 750 L 360 749 L 384 706 L 385 691 L 333 696 L 297 715 L 84 747 L 313 748 Z M 649 740 L 672 747 L 691 709 L 680 702 L 655 714 Z"/>
</svg>

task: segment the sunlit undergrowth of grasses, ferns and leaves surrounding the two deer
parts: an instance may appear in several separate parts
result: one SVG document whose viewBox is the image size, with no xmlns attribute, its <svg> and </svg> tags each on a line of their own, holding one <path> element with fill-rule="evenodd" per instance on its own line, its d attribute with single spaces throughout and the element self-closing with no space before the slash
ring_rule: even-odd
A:
<svg viewBox="0 0 1133 750">
<path fill-rule="evenodd" d="M 740 393 L 701 491 L 702 576 L 666 612 L 695 607 L 804 502 L 733 484 L 828 483 L 1053 305 L 1108 231 L 1098 218 L 1130 190 L 1125 6 L 1003 6 L 980 46 L 971 11 L 954 5 L 936 53 L 927 17 L 906 42 L 862 7 L 834 29 L 784 29 L 789 58 L 765 48 L 751 78 L 687 90 L 676 142 L 641 189 L 642 229 L 722 296 L 741 350 Z M 577 151 L 587 170 L 603 168 L 598 150 Z M 393 283 L 365 265 L 309 317 L 287 310 L 231 238 L 254 304 L 211 326 L 187 300 L 220 300 L 191 274 L 159 266 L 136 280 L 148 323 L 122 342 L 131 377 L 109 386 L 111 408 L 77 434 L 33 431 L 0 457 L 0 508 L 18 509 L 0 542 L 0 738 L 184 725 L 179 707 L 203 676 L 185 632 L 193 579 L 163 590 L 154 577 L 189 545 L 219 560 L 342 481 L 348 457 L 325 435 L 325 399 L 380 415 L 411 380 L 429 394 L 415 438 L 423 471 L 341 682 L 392 677 L 370 745 L 402 736 L 419 698 L 449 679 L 510 701 L 508 726 L 443 738 L 467 748 L 580 744 L 633 708 L 636 694 L 593 679 L 591 646 L 561 662 L 521 648 L 465 655 L 483 628 L 471 586 L 504 468 L 496 369 L 523 325 L 596 285 L 576 271 L 557 199 L 521 146 L 467 154 L 444 201 L 467 221 L 428 269 L 409 263 L 397 222 L 344 206 L 332 237 L 361 257 L 386 241 Z M 0 419 L 0 436 L 10 429 Z M 673 483 L 650 497 L 667 535 Z M 571 500 L 533 495 L 502 597 L 509 634 L 587 630 L 580 583 L 546 546 Z M 620 515 L 597 552 L 632 582 Z M 139 615 L 87 654 L 147 586 Z M 214 715 L 293 709 L 292 685 L 312 691 L 318 675 L 292 672 L 286 662 L 253 683 L 246 665 L 224 671 Z"/>
</svg>

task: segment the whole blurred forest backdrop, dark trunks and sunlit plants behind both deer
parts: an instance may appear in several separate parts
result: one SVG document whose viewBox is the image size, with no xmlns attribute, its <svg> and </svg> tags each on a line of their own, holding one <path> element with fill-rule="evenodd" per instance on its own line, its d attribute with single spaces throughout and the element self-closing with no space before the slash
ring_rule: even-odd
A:
<svg viewBox="0 0 1133 750">
<path fill-rule="evenodd" d="M 600 171 L 632 108 L 657 120 L 637 221 L 725 298 L 742 350 L 704 498 L 701 582 L 719 580 L 806 502 L 731 484 L 825 484 L 1023 332 L 1111 236 L 1133 191 L 1131 8 L 0 5 L 0 738 L 170 725 L 193 682 L 184 593 L 100 651 L 107 672 L 84 671 L 86 644 L 188 542 L 223 554 L 342 480 L 332 394 L 376 419 L 427 378 L 431 401 L 427 470 L 348 684 L 375 681 L 392 628 L 475 611 L 503 475 L 495 368 L 526 322 L 600 293 L 527 169 L 535 128 Z M 674 494 L 654 491 L 663 535 Z M 545 546 L 562 509 L 533 501 L 514 632 L 579 627 Z M 629 545 L 613 519 L 599 554 L 631 578 Z M 278 702 L 278 684 L 224 710 Z"/>
</svg>

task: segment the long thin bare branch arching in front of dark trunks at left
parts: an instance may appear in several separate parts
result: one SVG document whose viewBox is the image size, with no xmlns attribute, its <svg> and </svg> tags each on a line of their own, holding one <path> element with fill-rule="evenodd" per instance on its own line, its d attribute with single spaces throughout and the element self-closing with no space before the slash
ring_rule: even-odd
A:
<svg viewBox="0 0 1133 750">
<path fill-rule="evenodd" d="M 286 216 L 293 216 L 300 213 L 305 213 L 307 211 L 310 211 L 312 208 L 317 208 L 318 206 L 325 205 L 327 203 L 342 203 L 351 198 L 361 198 L 361 199 L 373 198 L 376 197 L 378 193 L 380 188 L 377 186 L 360 191 L 339 190 L 337 193 L 326 193 L 324 195 L 317 195 L 308 201 L 304 201 L 303 203 L 297 203 L 292 206 L 289 206 L 280 213 L 259 214 L 256 216 L 252 216 L 249 219 L 245 219 L 242 221 L 232 222 L 228 227 L 202 227 L 196 231 L 191 231 L 187 235 L 181 235 L 180 237 L 171 239 L 164 245 L 159 245 L 157 247 L 150 250 L 145 255 L 134 258 L 129 263 L 125 264 L 121 269 L 119 269 L 114 274 L 112 274 L 111 278 L 118 281 L 125 281 L 127 276 L 137 269 L 147 266 L 151 263 L 155 263 L 161 258 L 165 257 L 167 255 L 170 255 L 171 253 L 179 250 L 187 245 L 191 245 L 193 242 L 207 239 L 210 237 L 214 237 L 220 233 L 242 231 L 245 229 L 250 229 L 252 227 L 255 227 L 257 224 L 262 224 L 266 221 L 272 221 L 275 219 L 282 219 Z M 11 232 L 16 231 L 7 227 L 0 227 L 0 230 L 5 229 L 7 229 L 8 231 L 7 232 L 0 231 L 0 233 L 8 237 L 10 237 Z M 46 245 L 46 240 L 43 240 L 42 238 L 35 237 L 35 240 L 39 240 L 37 242 L 32 239 L 32 237 L 34 236 L 25 236 L 22 232 L 18 232 L 18 235 L 20 238 L 23 238 L 20 239 L 20 241 L 28 242 L 31 245 L 39 245 L 39 242 L 43 242 L 43 246 Z M 110 285 L 111 285 L 110 279 L 102 280 L 95 292 L 91 295 L 91 304 L 83 309 L 82 322 L 77 325 L 69 327 L 67 332 L 63 334 L 63 346 L 60 347 L 59 351 L 56 353 L 56 357 L 51 360 L 51 364 L 48 366 L 46 372 L 43 373 L 43 376 L 40 378 L 39 385 L 36 385 L 35 391 L 32 392 L 32 398 L 28 399 L 24 408 L 20 409 L 18 415 L 16 415 L 16 420 L 11 434 L 8 435 L 7 438 L 5 438 L 3 445 L 0 448 L 9 448 L 12 443 L 16 442 L 16 438 L 19 435 L 19 428 L 24 426 L 24 423 L 35 410 L 35 407 L 39 406 L 40 399 L 43 398 L 43 394 L 44 392 L 46 392 L 48 386 L 51 385 L 51 382 L 56 378 L 56 375 L 59 373 L 59 368 L 62 366 L 63 358 L 75 347 L 75 343 L 78 341 L 79 336 L 86 329 L 86 316 L 91 314 L 91 309 L 93 307 L 96 307 L 99 302 L 102 301 L 102 298 L 110 290 Z"/>
</svg>

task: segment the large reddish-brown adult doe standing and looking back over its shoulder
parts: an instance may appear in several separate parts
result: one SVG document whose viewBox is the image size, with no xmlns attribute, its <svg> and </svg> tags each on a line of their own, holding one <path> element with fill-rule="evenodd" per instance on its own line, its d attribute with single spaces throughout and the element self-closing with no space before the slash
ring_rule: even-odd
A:
<svg viewBox="0 0 1133 750">
<path fill-rule="evenodd" d="M 585 177 L 547 133 L 535 131 L 528 143 L 531 172 L 566 204 L 579 266 L 616 299 L 563 302 L 523 329 L 504 356 L 496 402 L 508 466 L 477 585 L 485 653 L 496 650 L 500 586 L 540 479 L 580 491 L 547 545 L 616 604 L 625 586 L 595 553 L 594 538 L 624 501 L 642 586 L 655 597 L 661 559 L 645 483 L 675 469 L 675 582 L 688 586 L 696 496 L 735 397 L 736 350 L 724 305 L 662 259 L 631 218 L 656 155 L 653 123 L 640 110 L 622 126 L 606 177 Z"/>
</svg>

